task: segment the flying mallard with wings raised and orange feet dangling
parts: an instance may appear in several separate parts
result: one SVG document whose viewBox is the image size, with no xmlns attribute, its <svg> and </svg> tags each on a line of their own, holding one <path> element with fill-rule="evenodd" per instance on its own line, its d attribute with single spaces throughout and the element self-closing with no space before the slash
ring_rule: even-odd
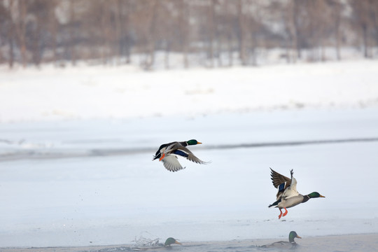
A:
<svg viewBox="0 0 378 252">
<path fill-rule="evenodd" d="M 272 168 L 271 176 L 272 183 L 275 188 L 278 188 L 278 193 L 276 195 L 276 202 L 270 204 L 269 207 L 278 207 L 281 216 L 286 216 L 288 214 L 288 209 L 290 207 L 295 207 L 297 204 L 307 202 L 309 199 L 324 197 L 317 192 L 310 193 L 309 195 L 301 195 L 297 192 L 297 180 L 293 177 L 293 170 L 290 170 L 291 179 L 286 176 L 275 172 Z M 285 212 L 282 214 L 281 209 L 285 209 Z"/>
</svg>

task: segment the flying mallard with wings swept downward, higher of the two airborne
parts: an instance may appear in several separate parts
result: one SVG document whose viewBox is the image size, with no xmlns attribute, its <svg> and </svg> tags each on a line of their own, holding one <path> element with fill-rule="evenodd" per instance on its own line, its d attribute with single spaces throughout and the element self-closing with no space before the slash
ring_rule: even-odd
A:
<svg viewBox="0 0 378 252">
<path fill-rule="evenodd" d="M 186 146 L 197 144 L 202 143 L 195 139 L 191 139 L 189 141 L 175 141 L 169 144 L 162 144 L 158 151 L 156 151 L 155 156 L 153 156 L 153 160 L 159 159 L 159 161 L 162 161 L 164 167 L 170 172 L 177 172 L 185 168 L 180 165 L 177 156 L 181 156 L 198 164 L 206 164 L 207 162 L 200 160 L 200 158 L 197 158 L 188 148 L 186 148 Z"/>
</svg>

